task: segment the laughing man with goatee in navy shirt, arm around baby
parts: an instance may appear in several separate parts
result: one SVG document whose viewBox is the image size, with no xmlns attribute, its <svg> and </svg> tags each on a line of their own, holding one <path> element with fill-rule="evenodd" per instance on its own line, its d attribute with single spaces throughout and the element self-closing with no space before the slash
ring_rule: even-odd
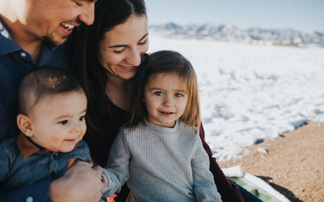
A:
<svg viewBox="0 0 324 202">
<path fill-rule="evenodd" d="M 94 20 L 95 0 L 1 0 L 0 141 L 18 134 L 17 89 L 22 77 L 44 65 L 66 69 L 73 28 Z M 64 45 L 63 45 L 64 44 Z M 61 46 L 63 45 L 63 46 Z M 98 201 L 101 168 L 76 162 L 63 177 L 3 192 L 0 201 Z"/>
</svg>

